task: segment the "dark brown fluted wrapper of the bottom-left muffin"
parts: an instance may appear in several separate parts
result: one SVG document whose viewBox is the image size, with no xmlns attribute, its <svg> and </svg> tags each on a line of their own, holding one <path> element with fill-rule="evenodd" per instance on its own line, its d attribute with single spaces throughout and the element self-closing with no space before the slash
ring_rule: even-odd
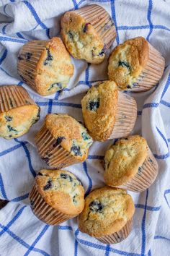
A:
<svg viewBox="0 0 170 256">
<path fill-rule="evenodd" d="M 49 225 L 58 225 L 70 218 L 75 217 L 73 215 L 61 213 L 52 206 L 48 205 L 48 203 L 43 199 L 42 195 L 40 195 L 38 192 L 36 185 L 34 185 L 32 188 L 29 197 L 32 212 L 37 218 L 45 223 L 48 223 Z"/>
</svg>

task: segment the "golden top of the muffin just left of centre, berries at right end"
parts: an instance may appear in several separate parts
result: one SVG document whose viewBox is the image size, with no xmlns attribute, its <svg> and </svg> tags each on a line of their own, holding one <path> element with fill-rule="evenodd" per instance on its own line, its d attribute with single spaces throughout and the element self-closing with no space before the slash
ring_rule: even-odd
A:
<svg viewBox="0 0 170 256">
<path fill-rule="evenodd" d="M 67 150 L 78 161 L 84 161 L 93 143 L 79 121 L 68 114 L 48 114 L 45 117 L 45 126 L 62 148 Z"/>
</svg>

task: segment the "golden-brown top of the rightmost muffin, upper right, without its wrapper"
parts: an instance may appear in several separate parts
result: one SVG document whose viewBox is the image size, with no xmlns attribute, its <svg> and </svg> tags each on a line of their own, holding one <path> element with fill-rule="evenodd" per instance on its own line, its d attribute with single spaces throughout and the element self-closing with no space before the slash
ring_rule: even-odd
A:
<svg viewBox="0 0 170 256">
<path fill-rule="evenodd" d="M 120 90 L 135 87 L 138 76 L 146 67 L 148 54 L 148 41 L 142 37 L 118 45 L 109 57 L 109 80 L 115 81 Z"/>
</svg>

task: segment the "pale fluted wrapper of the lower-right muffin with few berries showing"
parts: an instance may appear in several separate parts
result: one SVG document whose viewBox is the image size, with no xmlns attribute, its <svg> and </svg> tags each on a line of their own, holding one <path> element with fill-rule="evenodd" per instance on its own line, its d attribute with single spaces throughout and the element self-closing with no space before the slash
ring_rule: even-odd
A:
<svg viewBox="0 0 170 256">
<path fill-rule="evenodd" d="M 129 182 L 122 184 L 119 187 L 122 189 L 128 189 L 133 192 L 142 192 L 153 184 L 158 175 L 158 163 L 153 153 L 151 153 L 150 148 L 148 148 L 148 155 L 146 160 L 138 170 L 138 173 L 135 174 L 133 179 L 130 179 Z"/>
</svg>

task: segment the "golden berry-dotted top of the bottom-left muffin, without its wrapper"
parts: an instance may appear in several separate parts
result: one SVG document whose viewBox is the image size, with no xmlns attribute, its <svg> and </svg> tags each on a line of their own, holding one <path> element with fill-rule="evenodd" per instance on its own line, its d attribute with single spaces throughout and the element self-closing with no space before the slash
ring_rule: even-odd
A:
<svg viewBox="0 0 170 256">
<path fill-rule="evenodd" d="M 84 208 L 84 187 L 69 171 L 41 170 L 35 186 L 48 205 L 68 215 L 77 215 Z"/>
</svg>

